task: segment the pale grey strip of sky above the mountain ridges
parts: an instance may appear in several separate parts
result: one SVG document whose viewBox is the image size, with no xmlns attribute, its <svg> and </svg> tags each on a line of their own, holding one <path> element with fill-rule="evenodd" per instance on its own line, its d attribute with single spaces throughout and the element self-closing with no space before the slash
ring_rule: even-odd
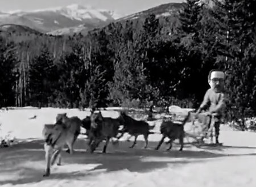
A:
<svg viewBox="0 0 256 187">
<path fill-rule="evenodd" d="M 0 0 L 0 11 L 29 11 L 79 4 L 113 10 L 120 15 L 129 15 L 164 3 L 183 1 L 184 0 Z"/>
</svg>

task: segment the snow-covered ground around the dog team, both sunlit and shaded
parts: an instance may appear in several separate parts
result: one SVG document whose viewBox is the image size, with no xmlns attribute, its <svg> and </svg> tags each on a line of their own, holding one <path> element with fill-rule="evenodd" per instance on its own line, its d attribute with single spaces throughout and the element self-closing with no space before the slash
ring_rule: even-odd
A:
<svg viewBox="0 0 256 187">
<path fill-rule="evenodd" d="M 121 141 L 116 146 L 110 143 L 106 155 L 100 153 L 102 145 L 89 154 L 80 135 L 75 153 L 63 153 L 63 165 L 53 166 L 51 176 L 44 178 L 42 128 L 54 123 L 57 113 L 81 119 L 89 115 L 89 111 L 56 108 L 0 112 L 0 137 L 10 133 L 20 141 L 0 148 L 0 186 L 256 186 L 256 134 L 224 125 L 220 131 L 222 147 L 187 143 L 183 152 L 176 144 L 171 151 L 165 151 L 166 145 L 155 151 L 160 135 L 152 134 L 147 150 L 142 148 L 143 137 L 139 137 L 133 149 L 129 148 L 132 142 Z M 102 114 L 118 116 L 109 110 Z M 155 131 L 159 131 L 159 124 Z"/>
</svg>

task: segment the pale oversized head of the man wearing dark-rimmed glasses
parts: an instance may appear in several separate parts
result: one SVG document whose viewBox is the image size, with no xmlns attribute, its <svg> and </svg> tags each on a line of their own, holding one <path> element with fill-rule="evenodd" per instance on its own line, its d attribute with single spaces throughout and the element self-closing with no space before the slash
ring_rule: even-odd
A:
<svg viewBox="0 0 256 187">
<path fill-rule="evenodd" d="M 213 71 L 208 83 L 215 92 L 221 92 L 224 88 L 225 74 L 222 71 Z"/>
</svg>

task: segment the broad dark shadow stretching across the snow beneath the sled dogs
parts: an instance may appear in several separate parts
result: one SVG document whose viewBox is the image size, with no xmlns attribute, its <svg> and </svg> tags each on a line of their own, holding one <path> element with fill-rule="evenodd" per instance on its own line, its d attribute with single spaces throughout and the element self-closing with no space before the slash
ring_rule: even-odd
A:
<svg viewBox="0 0 256 187">
<path fill-rule="evenodd" d="M 6 151 L 0 152 L 0 176 L 6 173 L 22 171 L 19 179 L 11 179 L 0 181 L 0 185 L 4 184 L 28 184 L 31 182 L 40 182 L 48 179 L 80 179 L 90 175 L 97 175 L 98 172 L 122 171 L 124 169 L 130 172 L 148 172 L 154 169 L 160 169 L 172 165 L 172 167 L 180 167 L 180 165 L 196 162 L 207 162 L 208 159 L 218 158 L 221 156 L 244 156 L 255 154 L 222 154 L 220 152 L 210 152 L 209 150 L 193 150 L 191 145 L 186 144 L 184 151 L 178 151 L 179 145 L 174 145 L 172 150 L 165 151 L 167 145 L 162 145 L 160 150 L 154 148 L 158 142 L 149 142 L 150 148 L 143 149 L 144 142 L 138 141 L 135 148 L 129 148 L 132 142 L 119 142 L 118 146 L 110 144 L 107 148 L 107 154 L 101 154 L 104 143 L 97 148 L 93 154 L 85 152 L 86 141 L 79 139 L 75 144 L 75 152 L 69 155 L 63 152 L 63 165 L 72 164 L 94 164 L 96 167 L 86 169 L 86 172 L 52 171 L 51 176 L 44 178 L 43 172 L 45 167 L 43 141 L 31 141 L 14 145 L 6 148 Z M 232 147 L 231 148 L 241 148 Z M 224 148 L 226 148 L 224 147 Z M 242 147 L 247 148 L 247 147 Z M 4 156 L 3 156 L 4 155 Z M 27 163 L 27 164 L 24 164 Z M 32 167 L 32 165 L 38 166 Z M 28 165 L 31 165 L 31 167 Z M 97 172 L 98 171 L 98 172 Z"/>
</svg>

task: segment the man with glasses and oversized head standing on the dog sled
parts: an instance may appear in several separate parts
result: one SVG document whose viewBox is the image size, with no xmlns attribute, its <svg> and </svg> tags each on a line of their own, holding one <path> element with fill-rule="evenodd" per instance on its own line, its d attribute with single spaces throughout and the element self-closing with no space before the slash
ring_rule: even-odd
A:
<svg viewBox="0 0 256 187">
<path fill-rule="evenodd" d="M 207 112 L 208 116 L 211 116 L 209 126 L 204 127 L 205 134 L 201 138 L 203 142 L 204 138 L 209 133 L 212 133 L 213 128 L 215 129 L 216 144 L 218 144 L 218 135 L 220 134 L 220 123 L 221 118 L 224 116 L 224 110 L 226 107 L 226 94 L 224 91 L 225 73 L 221 70 L 211 70 L 208 75 L 208 83 L 210 88 L 204 95 L 204 100 L 201 103 L 199 109 L 196 112 L 198 114 L 209 109 Z"/>
</svg>

